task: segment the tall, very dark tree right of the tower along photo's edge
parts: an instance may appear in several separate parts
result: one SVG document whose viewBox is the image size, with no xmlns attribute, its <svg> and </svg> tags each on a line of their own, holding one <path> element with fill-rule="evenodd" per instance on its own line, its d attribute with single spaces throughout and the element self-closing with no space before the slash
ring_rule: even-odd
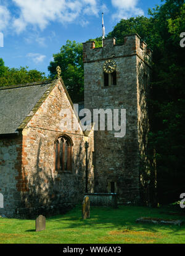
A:
<svg viewBox="0 0 185 256">
<path fill-rule="evenodd" d="M 161 202 L 171 202 L 178 200 L 185 181 L 185 52 L 179 45 L 179 35 L 185 31 L 184 1 L 167 0 L 149 13 L 153 19 L 152 32 L 156 36 L 153 42 L 150 145 L 157 150 L 159 198 Z"/>
</svg>

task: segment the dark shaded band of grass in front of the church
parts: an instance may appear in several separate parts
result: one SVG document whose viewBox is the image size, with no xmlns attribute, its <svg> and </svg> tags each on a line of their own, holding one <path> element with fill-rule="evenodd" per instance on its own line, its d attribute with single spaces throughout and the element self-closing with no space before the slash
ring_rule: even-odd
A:
<svg viewBox="0 0 185 256">
<path fill-rule="evenodd" d="M 161 209 L 147 208 L 147 207 L 131 207 L 131 206 L 120 206 L 117 209 L 113 208 L 102 208 L 102 207 L 91 207 L 91 218 L 82 220 L 81 218 L 81 206 L 76 207 L 66 215 L 55 216 L 48 220 L 56 221 L 57 223 L 65 226 L 63 229 L 115 229 L 118 231 L 129 229 L 130 231 L 145 231 L 152 233 L 167 233 L 176 234 L 179 236 L 178 231 L 185 232 L 185 225 L 183 226 L 167 226 L 162 224 L 144 224 L 136 223 L 137 218 L 154 217 L 154 218 L 168 218 L 171 219 L 170 215 L 160 214 Z M 179 219 L 178 216 L 174 216 L 175 220 Z M 181 218 L 185 221 L 185 218 Z M 181 236 L 185 233 L 181 233 Z"/>
</svg>

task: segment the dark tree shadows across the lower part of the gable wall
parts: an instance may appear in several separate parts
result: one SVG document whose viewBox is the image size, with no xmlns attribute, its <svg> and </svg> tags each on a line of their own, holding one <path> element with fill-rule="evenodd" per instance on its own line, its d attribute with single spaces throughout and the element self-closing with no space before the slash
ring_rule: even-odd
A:
<svg viewBox="0 0 185 256">
<path fill-rule="evenodd" d="M 27 182 L 27 191 L 21 193 L 21 203 L 17 209 L 20 218 L 35 218 L 65 213 L 83 200 L 85 189 L 85 150 L 81 140 L 78 153 L 72 158 L 72 171 L 58 173 L 48 164 L 46 141 L 40 139 L 36 153 L 36 164 L 22 176 Z M 44 153 L 43 153 L 44 152 Z M 49 152 L 51 153 L 51 152 Z M 44 158 L 41 158 L 44 155 Z M 90 158 L 90 154 L 89 154 Z M 88 163 L 89 163 L 88 158 Z"/>
</svg>

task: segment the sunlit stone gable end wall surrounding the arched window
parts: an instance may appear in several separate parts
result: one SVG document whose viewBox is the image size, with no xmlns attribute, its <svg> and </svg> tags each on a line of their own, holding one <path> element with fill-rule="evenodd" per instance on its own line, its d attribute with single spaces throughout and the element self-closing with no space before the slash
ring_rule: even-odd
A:
<svg viewBox="0 0 185 256">
<path fill-rule="evenodd" d="M 23 129 L 23 141 L 27 147 L 22 171 L 27 176 L 28 192 L 22 194 L 22 207 L 76 203 L 83 198 L 86 141 L 89 142 L 89 180 L 93 180 L 93 134 L 85 137 L 79 124 L 78 131 L 69 129 L 67 122 L 70 116 L 67 116 L 62 129 L 60 123 L 66 116 L 61 114 L 61 109 L 70 109 L 73 114 L 72 106 L 59 82 Z M 64 134 L 73 143 L 72 171 L 58 173 L 55 171 L 54 143 L 57 137 Z M 92 181 L 91 184 L 93 186 Z M 89 187 L 89 190 L 93 190 L 93 187 Z"/>
</svg>

